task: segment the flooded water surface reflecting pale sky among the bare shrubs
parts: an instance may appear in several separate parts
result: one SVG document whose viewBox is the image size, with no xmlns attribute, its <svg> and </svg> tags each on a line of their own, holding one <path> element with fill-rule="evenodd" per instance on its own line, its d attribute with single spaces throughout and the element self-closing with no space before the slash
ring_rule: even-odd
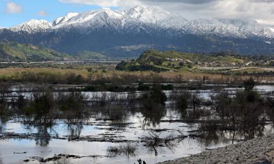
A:
<svg viewBox="0 0 274 164">
<path fill-rule="evenodd" d="M 14 86 L 14 94 L 18 94 L 17 87 Z M 233 88 L 226 89 L 234 90 Z M 256 90 L 272 92 L 273 87 L 260 85 L 256 86 Z M 206 99 L 214 93 L 214 90 L 200 90 L 199 93 L 199 96 Z M 21 94 L 27 96 L 29 92 Z M 87 92 L 85 94 L 94 93 Z M 110 93 L 108 92 L 108 94 Z M 153 164 L 232 144 L 233 133 L 231 131 L 216 132 L 214 137 L 206 139 L 191 137 L 191 134 L 199 128 L 200 123 L 178 121 L 181 116 L 171 107 L 171 103 L 166 102 L 164 114 L 160 117 L 147 119 L 147 116 L 138 110 L 126 111 L 123 120 L 119 122 L 105 119 L 103 112 L 100 111 L 72 124 L 68 124 L 64 119 L 57 119 L 52 126 L 34 126 L 21 117 L 12 117 L 8 121 L 0 123 L 0 136 L 9 133 L 21 136 L 42 134 L 49 137 L 45 139 L 36 136 L 2 139 L 0 140 L 0 161 L 2 163 L 25 163 L 23 161 L 29 159 L 27 163 L 40 163 L 36 159 L 50 158 L 55 154 L 74 154 L 82 158 L 69 158 L 66 163 L 134 164 L 137 163 L 137 159 L 142 159 L 146 163 Z M 199 118 L 199 120 L 205 119 Z M 142 141 L 142 138 L 149 136 L 151 131 L 157 131 L 162 137 L 171 133 L 175 136 L 183 134 L 186 137 L 179 139 L 172 146 L 158 146 L 154 150 Z M 272 123 L 264 125 L 262 133 L 264 135 L 273 133 Z M 75 136 L 76 138 L 74 138 Z M 234 138 L 235 141 L 241 139 L 245 139 L 244 135 L 237 135 Z M 136 146 L 134 154 L 128 156 L 123 153 L 110 155 L 107 151 L 110 146 L 123 146 L 127 143 Z M 55 163 L 55 161 L 49 163 Z"/>
</svg>

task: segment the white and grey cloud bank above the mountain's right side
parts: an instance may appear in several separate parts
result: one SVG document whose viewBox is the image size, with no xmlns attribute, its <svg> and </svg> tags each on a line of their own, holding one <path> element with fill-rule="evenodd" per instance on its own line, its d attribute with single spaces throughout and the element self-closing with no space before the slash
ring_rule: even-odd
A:
<svg viewBox="0 0 274 164">
<path fill-rule="evenodd" d="M 157 5 L 189 17 L 242 18 L 274 25 L 274 0 L 59 0 L 101 7 Z"/>
</svg>

